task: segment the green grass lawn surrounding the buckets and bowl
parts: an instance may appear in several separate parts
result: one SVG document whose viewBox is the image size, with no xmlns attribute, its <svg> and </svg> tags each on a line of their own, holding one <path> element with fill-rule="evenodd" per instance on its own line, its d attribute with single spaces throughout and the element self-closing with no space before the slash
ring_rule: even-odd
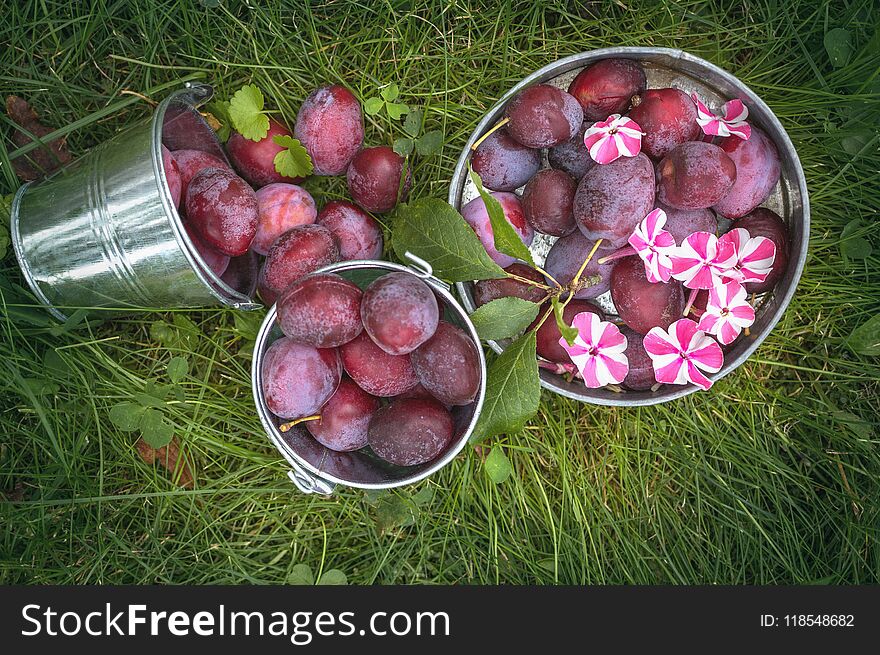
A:
<svg viewBox="0 0 880 655">
<path fill-rule="evenodd" d="M 496 439 L 514 465 L 493 484 L 470 449 L 429 481 L 384 497 L 299 494 L 252 408 L 248 330 L 235 312 L 182 312 L 61 331 L 0 271 L 0 583 L 283 582 L 306 563 L 355 583 L 871 583 L 880 577 L 880 361 L 845 339 L 880 311 L 880 258 L 846 261 L 855 218 L 877 239 L 880 12 L 853 2 L 626 0 L 244 3 L 60 0 L 3 10 L 0 90 L 29 98 L 80 154 L 149 114 L 145 93 L 201 72 L 227 96 L 253 81 L 292 119 L 320 83 L 361 97 L 397 82 L 442 128 L 415 196 L 445 198 L 482 113 L 532 70 L 611 45 L 686 49 L 759 93 L 788 130 L 813 206 L 810 257 L 782 322 L 711 393 L 645 409 L 545 393 L 521 432 Z M 82 6 L 80 6 L 82 5 Z M 91 5 L 89 7 L 89 5 Z M 576 6 L 582 6 L 576 9 Z M 828 29 L 855 52 L 833 68 Z M 161 97 L 161 94 L 159 94 Z M 0 191 L 8 123 L 0 122 Z M 387 122 L 368 141 L 390 143 Z M 862 139 L 858 156 L 843 138 Z M 312 183 L 319 203 L 340 180 Z M 45 365 L 47 353 L 50 364 Z M 109 408 L 167 382 L 185 355 L 178 425 L 191 491 L 144 464 Z M 59 359 L 60 358 L 60 359 Z M 63 364 L 62 364 L 63 362 Z M 429 491 L 425 491 L 428 489 Z M 433 493 L 431 493 L 433 492 Z M 416 495 L 418 494 L 418 495 Z"/>
</svg>

